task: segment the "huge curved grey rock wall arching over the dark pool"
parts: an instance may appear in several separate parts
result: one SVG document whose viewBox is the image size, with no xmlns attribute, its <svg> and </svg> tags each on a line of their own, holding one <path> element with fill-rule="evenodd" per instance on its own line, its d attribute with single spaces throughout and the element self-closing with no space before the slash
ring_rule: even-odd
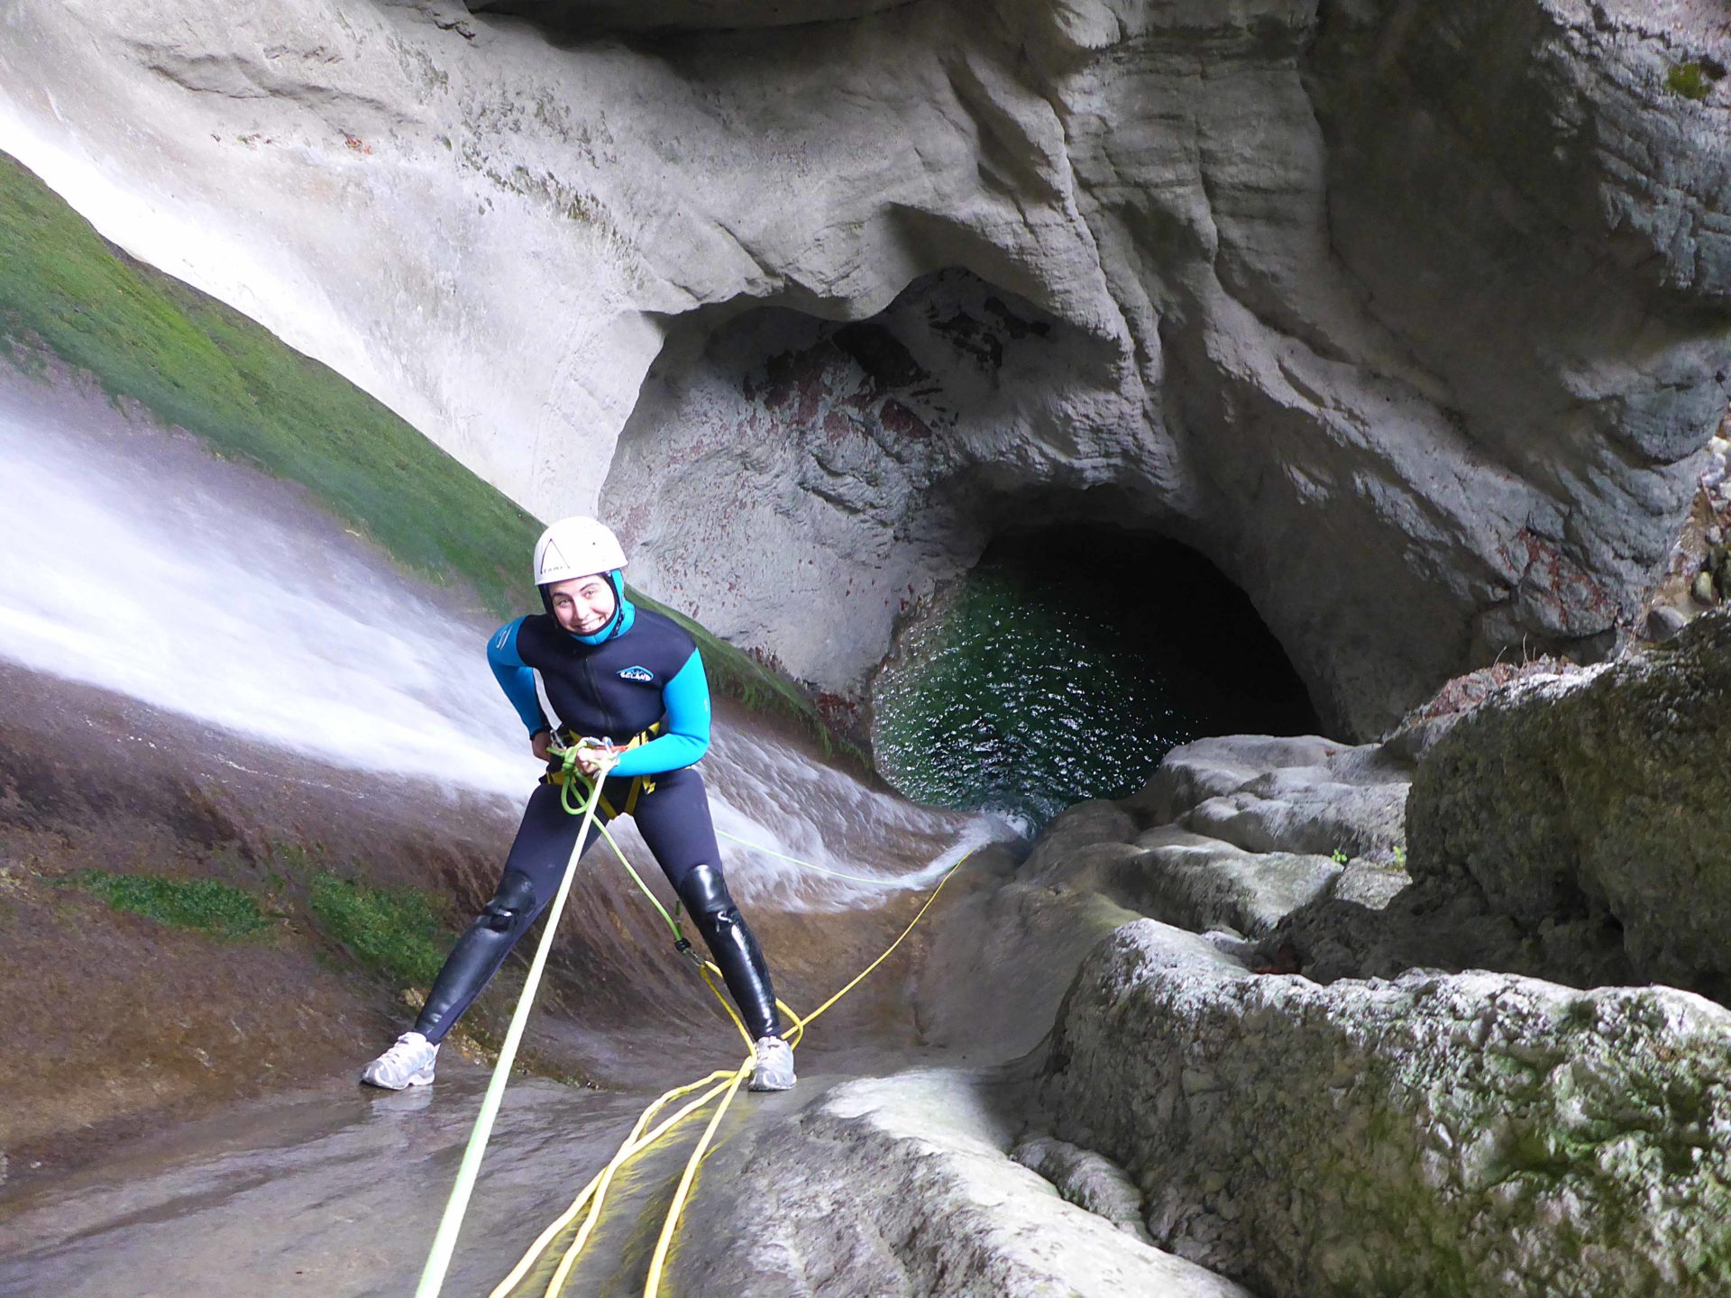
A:
<svg viewBox="0 0 1731 1298">
<path fill-rule="evenodd" d="M 1196 545 L 1359 734 L 1605 651 L 1677 531 L 1707 0 L 507 9 L 26 0 L 0 144 L 843 694 L 1007 519 Z"/>
</svg>

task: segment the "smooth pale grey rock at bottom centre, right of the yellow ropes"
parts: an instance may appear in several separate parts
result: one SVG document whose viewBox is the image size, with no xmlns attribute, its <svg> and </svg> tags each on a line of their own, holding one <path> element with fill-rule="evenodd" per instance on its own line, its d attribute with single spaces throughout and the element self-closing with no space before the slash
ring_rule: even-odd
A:
<svg viewBox="0 0 1731 1298">
<path fill-rule="evenodd" d="M 673 1288 L 1252 1298 L 1058 1198 L 1009 1158 L 1001 1102 L 966 1073 L 898 1073 L 840 1085 L 798 1118 L 730 1142 L 705 1179 L 732 1192 L 689 1210 Z"/>
</svg>

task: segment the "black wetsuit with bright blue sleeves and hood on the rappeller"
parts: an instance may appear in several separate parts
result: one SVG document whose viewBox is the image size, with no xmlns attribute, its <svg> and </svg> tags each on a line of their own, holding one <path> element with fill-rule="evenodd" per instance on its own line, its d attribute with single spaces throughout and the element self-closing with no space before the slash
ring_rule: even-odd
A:
<svg viewBox="0 0 1731 1298">
<path fill-rule="evenodd" d="M 635 819 L 715 954 L 753 1038 L 781 1035 L 763 952 L 727 895 L 710 800 L 692 768 L 710 748 L 703 658 L 679 623 L 625 599 L 618 573 L 608 578 L 616 607 L 601 632 L 566 632 L 550 611 L 518 618 L 493 632 L 486 661 L 530 736 L 554 729 L 535 691 L 538 675 L 561 737 L 632 744 L 602 784 L 595 819 Z M 552 900 L 580 824 L 559 805 L 550 775 L 530 794 L 493 898 L 457 940 L 415 1021 L 429 1042 L 450 1031 Z M 590 843 L 597 834 L 590 831 Z"/>
</svg>

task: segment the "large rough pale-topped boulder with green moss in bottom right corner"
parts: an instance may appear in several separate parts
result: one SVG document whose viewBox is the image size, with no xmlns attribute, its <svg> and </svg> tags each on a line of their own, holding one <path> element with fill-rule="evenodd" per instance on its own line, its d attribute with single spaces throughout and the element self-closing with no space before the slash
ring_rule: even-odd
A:
<svg viewBox="0 0 1731 1298">
<path fill-rule="evenodd" d="M 1731 1014 L 1508 974 L 1257 978 L 1153 921 L 1089 957 L 1042 1096 L 1155 1241 L 1265 1298 L 1695 1298 L 1731 1250 Z"/>
</svg>

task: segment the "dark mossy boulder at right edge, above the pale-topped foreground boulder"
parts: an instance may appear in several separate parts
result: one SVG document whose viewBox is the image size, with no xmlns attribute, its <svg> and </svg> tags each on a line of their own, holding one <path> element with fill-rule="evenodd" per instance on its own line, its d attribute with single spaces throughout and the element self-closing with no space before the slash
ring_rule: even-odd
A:
<svg viewBox="0 0 1731 1298">
<path fill-rule="evenodd" d="M 1610 924 L 1643 978 L 1722 993 L 1728 706 L 1728 613 L 1494 694 L 1418 768 L 1412 876 L 1480 890 L 1525 933 Z"/>
</svg>

